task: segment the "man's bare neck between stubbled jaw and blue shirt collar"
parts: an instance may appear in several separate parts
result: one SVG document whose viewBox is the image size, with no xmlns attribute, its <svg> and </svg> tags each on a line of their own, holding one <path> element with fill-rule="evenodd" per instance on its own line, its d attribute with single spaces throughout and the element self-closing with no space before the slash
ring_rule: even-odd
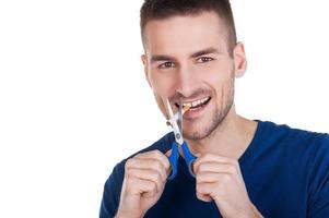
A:
<svg viewBox="0 0 329 218">
<path fill-rule="evenodd" d="M 257 122 L 236 114 L 233 105 L 211 135 L 200 141 L 186 140 L 186 143 L 193 154 L 211 153 L 238 159 L 252 141 L 256 128 Z"/>
</svg>

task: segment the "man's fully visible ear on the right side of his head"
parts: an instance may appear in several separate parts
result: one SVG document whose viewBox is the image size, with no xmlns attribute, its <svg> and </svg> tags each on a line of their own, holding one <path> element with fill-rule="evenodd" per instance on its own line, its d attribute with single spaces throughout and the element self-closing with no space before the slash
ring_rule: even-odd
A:
<svg viewBox="0 0 329 218">
<path fill-rule="evenodd" d="M 242 77 L 247 70 L 247 57 L 245 53 L 245 46 L 243 43 L 237 43 L 234 51 L 234 65 L 235 65 L 235 77 Z"/>
</svg>

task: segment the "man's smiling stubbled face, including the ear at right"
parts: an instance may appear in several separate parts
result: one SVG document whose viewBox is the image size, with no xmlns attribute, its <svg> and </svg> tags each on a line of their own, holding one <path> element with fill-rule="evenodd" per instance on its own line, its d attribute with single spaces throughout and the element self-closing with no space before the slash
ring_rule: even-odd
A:
<svg viewBox="0 0 329 218">
<path fill-rule="evenodd" d="M 148 22 L 142 60 L 161 111 L 169 99 L 191 106 L 184 114 L 184 136 L 209 136 L 230 112 L 234 77 L 245 71 L 243 46 L 228 51 L 226 27 L 214 12 Z M 238 68 L 236 68 L 236 64 Z"/>
</svg>

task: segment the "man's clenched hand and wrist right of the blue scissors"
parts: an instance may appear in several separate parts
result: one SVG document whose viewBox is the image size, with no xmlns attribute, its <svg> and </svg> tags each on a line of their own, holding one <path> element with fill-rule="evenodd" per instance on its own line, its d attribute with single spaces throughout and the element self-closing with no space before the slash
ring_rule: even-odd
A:
<svg viewBox="0 0 329 218">
<path fill-rule="evenodd" d="M 196 159 L 193 171 L 197 197 L 214 201 L 223 217 L 261 217 L 248 197 L 237 160 L 205 154 Z"/>
</svg>

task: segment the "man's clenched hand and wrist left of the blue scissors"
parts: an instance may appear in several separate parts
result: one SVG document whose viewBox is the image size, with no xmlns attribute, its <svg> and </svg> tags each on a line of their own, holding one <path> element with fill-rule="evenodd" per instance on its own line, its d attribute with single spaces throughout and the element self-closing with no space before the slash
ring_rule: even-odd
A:
<svg viewBox="0 0 329 218">
<path fill-rule="evenodd" d="M 158 150 L 127 160 L 116 217 L 142 217 L 161 197 L 169 170 L 168 158 Z"/>
</svg>

